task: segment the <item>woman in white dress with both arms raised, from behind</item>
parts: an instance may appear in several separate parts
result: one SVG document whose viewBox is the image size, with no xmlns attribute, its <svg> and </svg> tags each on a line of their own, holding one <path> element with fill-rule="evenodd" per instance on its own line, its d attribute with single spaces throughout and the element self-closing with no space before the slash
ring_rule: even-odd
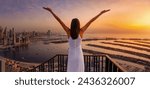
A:
<svg viewBox="0 0 150 89">
<path fill-rule="evenodd" d="M 49 11 L 67 33 L 69 41 L 67 72 L 84 72 L 84 59 L 81 47 L 83 33 L 86 31 L 86 29 L 90 26 L 90 24 L 93 21 L 95 21 L 102 14 L 110 11 L 110 9 L 101 11 L 82 28 L 80 28 L 80 22 L 77 18 L 74 18 L 72 20 L 71 27 L 69 28 L 50 8 L 43 7 L 43 9 Z"/>
</svg>

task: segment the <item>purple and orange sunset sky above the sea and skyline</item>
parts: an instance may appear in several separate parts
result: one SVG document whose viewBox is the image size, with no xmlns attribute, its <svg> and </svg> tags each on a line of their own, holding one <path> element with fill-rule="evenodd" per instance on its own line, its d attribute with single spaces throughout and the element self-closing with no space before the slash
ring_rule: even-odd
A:
<svg viewBox="0 0 150 89">
<path fill-rule="evenodd" d="M 81 27 L 104 9 L 111 9 L 88 28 L 88 32 L 150 34 L 150 0 L 0 0 L 0 26 L 17 31 L 62 32 L 52 10 L 70 27 L 79 18 Z"/>
</svg>

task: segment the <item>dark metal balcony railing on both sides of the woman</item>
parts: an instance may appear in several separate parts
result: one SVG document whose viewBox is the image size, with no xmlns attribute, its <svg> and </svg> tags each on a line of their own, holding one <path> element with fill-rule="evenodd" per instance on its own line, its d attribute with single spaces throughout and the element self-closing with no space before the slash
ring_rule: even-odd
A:
<svg viewBox="0 0 150 89">
<path fill-rule="evenodd" d="M 57 54 L 29 72 L 66 72 L 68 56 Z M 126 72 L 107 55 L 84 55 L 85 72 Z"/>
</svg>

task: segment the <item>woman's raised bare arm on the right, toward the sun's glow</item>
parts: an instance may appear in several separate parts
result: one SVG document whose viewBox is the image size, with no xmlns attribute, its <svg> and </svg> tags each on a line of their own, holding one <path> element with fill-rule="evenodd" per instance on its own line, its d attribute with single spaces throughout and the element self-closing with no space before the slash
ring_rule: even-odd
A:
<svg viewBox="0 0 150 89">
<path fill-rule="evenodd" d="M 86 29 L 90 26 L 90 24 L 91 24 L 92 22 L 94 22 L 99 16 L 101 16 L 102 14 L 104 14 L 104 13 L 106 13 L 106 12 L 108 12 L 108 11 L 110 11 L 110 9 L 101 11 L 98 15 L 96 15 L 94 18 L 92 18 L 89 22 L 87 22 L 87 23 L 81 28 L 81 32 L 85 32 Z"/>
</svg>

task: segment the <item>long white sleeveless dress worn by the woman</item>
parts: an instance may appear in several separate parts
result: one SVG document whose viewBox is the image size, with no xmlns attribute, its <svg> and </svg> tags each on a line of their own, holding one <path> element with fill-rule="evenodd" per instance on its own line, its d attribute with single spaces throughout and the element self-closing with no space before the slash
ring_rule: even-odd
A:
<svg viewBox="0 0 150 89">
<path fill-rule="evenodd" d="M 67 72 L 84 72 L 84 58 L 82 52 L 82 39 L 78 36 L 77 39 L 69 37 L 68 64 Z"/>
</svg>

